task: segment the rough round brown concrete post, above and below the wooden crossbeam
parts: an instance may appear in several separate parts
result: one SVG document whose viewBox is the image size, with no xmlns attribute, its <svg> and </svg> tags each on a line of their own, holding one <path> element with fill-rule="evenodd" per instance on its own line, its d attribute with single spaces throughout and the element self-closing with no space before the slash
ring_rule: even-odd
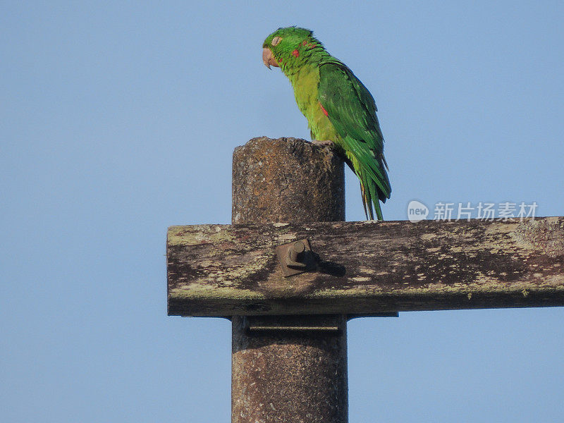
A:
<svg viewBox="0 0 564 423">
<path fill-rule="evenodd" d="M 344 186 L 343 161 L 331 148 L 255 138 L 233 153 L 232 221 L 343 221 Z M 347 422 L 345 316 L 326 317 L 338 331 L 283 329 L 295 317 L 261 319 L 278 329 L 251 332 L 246 317 L 233 316 L 231 422 Z"/>
</svg>

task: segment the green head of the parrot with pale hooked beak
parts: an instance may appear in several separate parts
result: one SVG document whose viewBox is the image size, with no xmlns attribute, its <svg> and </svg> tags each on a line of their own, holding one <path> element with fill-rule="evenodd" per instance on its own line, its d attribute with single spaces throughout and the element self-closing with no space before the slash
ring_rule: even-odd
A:
<svg viewBox="0 0 564 423">
<path fill-rule="evenodd" d="M 269 69 L 276 66 L 284 70 L 297 62 L 307 61 L 319 49 L 323 49 L 323 44 L 312 31 L 300 27 L 278 28 L 262 44 L 262 61 Z"/>
</svg>

